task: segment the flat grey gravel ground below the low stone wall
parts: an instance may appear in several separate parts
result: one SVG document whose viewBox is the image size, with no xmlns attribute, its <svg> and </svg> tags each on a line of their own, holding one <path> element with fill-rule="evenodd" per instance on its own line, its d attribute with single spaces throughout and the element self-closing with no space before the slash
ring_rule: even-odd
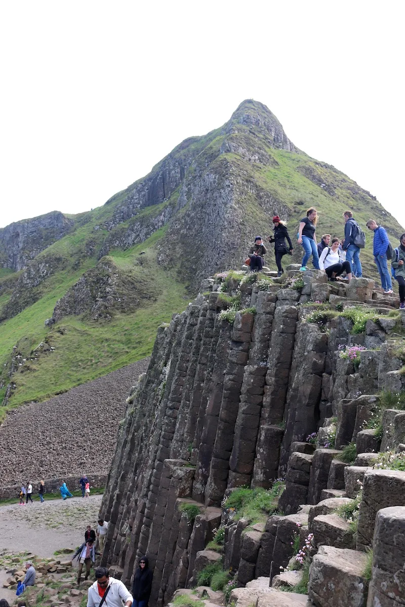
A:
<svg viewBox="0 0 405 607">
<path fill-rule="evenodd" d="M 0 550 L 52 557 L 61 548 L 77 548 L 84 541 L 86 526 L 97 526 L 102 497 L 0 506 Z"/>
</svg>

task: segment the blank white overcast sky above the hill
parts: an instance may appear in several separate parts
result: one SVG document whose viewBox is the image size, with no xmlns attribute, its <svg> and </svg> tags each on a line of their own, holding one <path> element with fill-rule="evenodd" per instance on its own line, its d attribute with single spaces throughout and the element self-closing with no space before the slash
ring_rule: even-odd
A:
<svg viewBox="0 0 405 607">
<path fill-rule="evenodd" d="M 254 98 L 405 226 L 401 2 L 1 2 L 0 226 L 100 206 Z"/>
</svg>

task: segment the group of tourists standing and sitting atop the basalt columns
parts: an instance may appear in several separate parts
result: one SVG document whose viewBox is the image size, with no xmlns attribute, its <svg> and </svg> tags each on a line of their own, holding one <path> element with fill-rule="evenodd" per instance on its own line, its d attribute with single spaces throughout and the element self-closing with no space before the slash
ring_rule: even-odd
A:
<svg viewBox="0 0 405 607">
<path fill-rule="evenodd" d="M 366 235 L 353 217 L 352 211 L 343 213 L 343 221 L 344 238 L 332 238 L 331 234 L 322 234 L 321 240 L 317 242 L 318 211 L 314 208 L 308 209 L 306 216 L 299 222 L 296 234 L 298 245 L 304 249 L 300 272 L 307 271 L 307 263 L 312 257 L 315 270 L 324 271 L 330 281 L 342 280 L 343 274 L 346 275 L 348 282 L 352 280 L 353 276 L 362 278 L 360 251 L 366 244 Z M 286 254 L 293 253 L 293 243 L 288 234 L 287 225 L 278 215 L 273 217 L 273 226 L 274 234 L 268 236 L 267 240 L 269 243 L 274 243 L 277 276 L 281 276 L 284 273 L 282 258 Z M 366 227 L 374 234 L 373 256 L 384 294 L 393 293 L 392 278 L 395 278 L 399 286 L 400 308 L 405 308 L 405 232 L 401 235 L 398 246 L 393 248 L 383 226 L 379 226 L 374 219 L 370 219 L 366 223 Z M 266 253 L 267 248 L 262 237 L 256 236 L 245 261 L 252 272 L 263 270 Z M 391 271 L 388 268 L 388 262 L 391 263 Z"/>
</svg>

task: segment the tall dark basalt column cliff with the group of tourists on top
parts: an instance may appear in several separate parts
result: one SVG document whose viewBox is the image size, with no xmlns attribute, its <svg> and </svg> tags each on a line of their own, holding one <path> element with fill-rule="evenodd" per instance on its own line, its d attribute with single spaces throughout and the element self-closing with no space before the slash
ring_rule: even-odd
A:
<svg viewBox="0 0 405 607">
<path fill-rule="evenodd" d="M 270 585 L 291 586 L 279 582 L 280 570 L 293 557 L 292 544 L 304 549 L 307 540 L 305 590 L 315 605 L 360 607 L 367 592 L 393 605 L 389 592 L 401 594 L 403 582 L 390 578 L 391 589 L 384 589 L 378 565 L 369 590 L 363 570 L 378 510 L 376 554 L 394 529 L 405 530 L 404 508 L 395 524 L 381 510 L 403 503 L 405 472 L 378 470 L 389 468 L 389 458 L 376 455 L 389 448 L 389 457 L 401 459 L 395 449 L 405 449 L 405 414 L 398 404 L 388 413 L 379 396 L 386 390 L 399 403 L 405 387 L 405 354 L 401 341 L 392 341 L 405 327 L 398 300 L 383 299 L 372 280 L 335 285 L 317 271 L 302 277 L 295 268 L 270 282 L 242 276 L 205 280 L 201 290 L 209 293 L 158 331 L 118 433 L 100 513 L 109 520 L 103 563 L 129 583 L 137 556 L 148 554 L 151 601 L 165 605 L 177 588 L 196 585 L 207 564 L 218 565 L 222 552 L 225 577 L 231 570 L 240 587 L 231 596 L 237 605 L 256 605 L 265 595 L 257 605 L 287 607 L 299 595 Z M 347 446 L 350 459 L 341 450 Z M 382 463 L 372 469 L 376 458 Z M 228 507 L 226 497 L 238 487 L 270 494 L 281 478 L 284 492 L 271 494 L 275 501 L 260 524 L 249 515 L 238 520 Z M 359 515 L 357 535 L 336 512 L 345 504 Z M 206 549 L 219 526 L 225 543 Z M 381 567 L 388 577 L 395 568 Z M 296 575 L 295 582 L 302 572 Z M 324 588 L 325 575 L 335 593 Z M 262 576 L 265 582 L 251 581 Z"/>
</svg>

